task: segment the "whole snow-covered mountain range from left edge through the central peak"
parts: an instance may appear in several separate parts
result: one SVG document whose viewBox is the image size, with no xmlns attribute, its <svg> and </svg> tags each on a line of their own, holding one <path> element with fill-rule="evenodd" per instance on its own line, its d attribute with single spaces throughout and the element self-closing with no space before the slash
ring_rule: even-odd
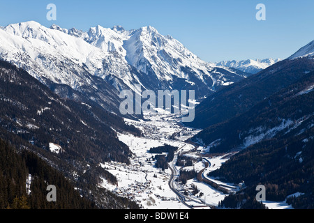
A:
<svg viewBox="0 0 314 223">
<path fill-rule="evenodd" d="M 202 98 L 245 77 L 244 72 L 202 61 L 151 26 L 130 31 L 96 26 L 84 32 L 57 25 L 49 29 L 33 21 L 10 24 L 0 29 L 0 58 L 56 93 L 66 91 L 68 96 L 65 86 L 70 86 L 76 91 L 72 98 L 81 93 L 106 108 L 117 107 L 119 91 L 137 91 L 137 84 L 154 91 L 195 89 Z"/>
</svg>

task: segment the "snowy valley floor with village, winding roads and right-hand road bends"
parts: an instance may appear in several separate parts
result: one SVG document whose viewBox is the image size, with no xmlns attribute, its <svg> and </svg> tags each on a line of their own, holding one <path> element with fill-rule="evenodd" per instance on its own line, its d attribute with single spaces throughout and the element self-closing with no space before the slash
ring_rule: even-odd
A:
<svg viewBox="0 0 314 223">
<path fill-rule="evenodd" d="M 116 176 L 118 183 L 112 185 L 103 179 L 100 187 L 136 201 L 143 209 L 212 208 L 218 206 L 219 201 L 227 196 L 226 193 L 211 187 L 206 182 L 198 181 L 197 178 L 187 180 L 187 183 L 183 185 L 176 180 L 181 169 L 203 171 L 203 179 L 218 184 L 228 193 L 239 190 L 239 185 L 223 183 L 217 178 L 207 176 L 210 171 L 218 169 L 230 156 L 227 154 L 202 157 L 202 153 L 207 151 L 206 148 L 200 146 L 196 149 L 194 145 L 186 142 L 186 139 L 193 137 L 200 130 L 184 127 L 178 122 L 178 118 L 165 112 L 159 112 L 156 115 L 147 114 L 144 118 L 145 121 L 125 120 L 140 128 L 144 136 L 134 137 L 130 134 L 118 134 L 119 140 L 128 145 L 133 153 L 133 157 L 130 159 L 131 164 L 118 162 L 101 164 L 103 168 Z M 156 161 L 153 160 L 156 154 L 149 153 L 149 149 L 165 144 L 176 146 L 179 149 L 174 155 L 174 160 L 169 163 L 170 168 L 162 171 L 162 169 L 156 168 Z M 179 153 L 198 157 L 200 161 L 194 162 L 190 167 L 178 167 L 176 162 Z M 192 194 L 193 187 L 197 187 L 199 190 L 195 195 Z M 292 208 L 285 201 L 281 203 L 267 201 L 265 205 L 276 209 Z"/>
</svg>

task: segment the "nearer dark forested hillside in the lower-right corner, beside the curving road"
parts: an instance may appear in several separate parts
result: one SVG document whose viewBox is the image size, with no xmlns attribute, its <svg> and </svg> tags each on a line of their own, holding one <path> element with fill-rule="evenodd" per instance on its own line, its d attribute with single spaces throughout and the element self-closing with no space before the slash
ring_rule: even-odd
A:
<svg viewBox="0 0 314 223">
<path fill-rule="evenodd" d="M 251 146 L 230 158 L 210 176 L 226 182 L 240 183 L 246 189 L 230 195 L 221 206 L 253 208 L 257 185 L 266 187 L 268 201 L 285 201 L 293 208 L 314 208 L 314 127 L 298 136 L 271 139 Z M 246 203 L 246 201 L 249 201 Z"/>
</svg>

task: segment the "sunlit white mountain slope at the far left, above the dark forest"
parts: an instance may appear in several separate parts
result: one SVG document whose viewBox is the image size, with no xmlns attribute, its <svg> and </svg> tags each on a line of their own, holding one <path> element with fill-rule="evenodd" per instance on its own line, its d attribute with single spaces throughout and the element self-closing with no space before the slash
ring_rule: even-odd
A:
<svg viewBox="0 0 314 223">
<path fill-rule="evenodd" d="M 132 69 L 121 57 L 101 49 L 103 45 L 95 43 L 96 47 L 82 38 L 64 33 L 64 30 L 24 22 L 4 27 L 0 38 L 3 43 L 1 57 L 25 68 L 37 79 L 44 76 L 76 89 L 86 84 L 87 73 L 102 78 L 114 73 L 118 78 L 115 82 L 117 89 L 123 88 L 124 84 L 133 86 L 130 83 L 133 79 L 128 78 L 132 77 Z"/>
</svg>

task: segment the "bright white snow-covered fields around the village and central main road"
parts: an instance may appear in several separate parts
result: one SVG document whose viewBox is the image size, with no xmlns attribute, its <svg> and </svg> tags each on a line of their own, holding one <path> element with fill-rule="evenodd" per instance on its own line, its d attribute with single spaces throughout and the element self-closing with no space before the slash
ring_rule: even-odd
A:
<svg viewBox="0 0 314 223">
<path fill-rule="evenodd" d="M 127 123 L 140 128 L 144 132 L 144 137 L 118 134 L 119 140 L 128 145 L 133 153 L 133 157 L 130 160 L 131 164 L 126 165 L 117 162 L 101 164 L 103 168 L 106 168 L 107 171 L 110 171 L 117 177 L 118 184 L 110 185 L 110 183 L 107 183 L 107 180 L 103 179 L 103 183 L 100 186 L 137 201 L 145 209 L 188 208 L 177 199 L 177 194 L 170 189 L 171 170 L 165 169 L 165 171 L 162 171 L 156 168 L 155 161 L 152 160 L 155 154 L 149 153 L 149 149 L 168 144 L 178 147 L 178 152 L 185 152 L 186 156 L 199 157 L 200 155 L 197 155 L 196 151 L 190 152 L 194 146 L 186 144 L 184 141 L 197 134 L 200 130 L 193 130 L 179 125 L 177 118 L 166 112 L 157 115 L 146 114 L 145 118 L 147 119 L 146 121 L 126 119 Z M 204 167 L 205 165 L 202 161 L 196 162 L 194 165 L 197 171 L 204 169 Z M 179 169 L 179 167 L 176 168 Z M 191 167 L 185 168 L 190 169 Z M 200 190 L 194 196 L 197 201 L 205 201 L 216 206 L 218 201 L 225 197 L 225 194 L 217 192 L 209 185 L 199 183 L 197 180 L 188 180 L 188 183 L 184 186 L 176 183 L 177 188 L 181 190 L 189 190 L 192 184 L 196 185 Z M 201 192 L 202 194 L 200 194 Z M 186 203 L 188 205 L 200 206 L 200 202 L 193 201 L 194 197 L 191 197 L 190 200 L 187 199 Z"/>
</svg>

